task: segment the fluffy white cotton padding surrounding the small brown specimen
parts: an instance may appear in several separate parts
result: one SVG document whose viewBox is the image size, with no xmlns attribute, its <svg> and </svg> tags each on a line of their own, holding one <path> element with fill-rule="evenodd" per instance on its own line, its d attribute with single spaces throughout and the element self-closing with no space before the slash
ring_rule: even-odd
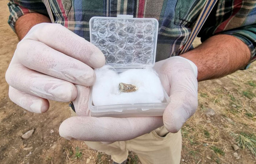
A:
<svg viewBox="0 0 256 164">
<path fill-rule="evenodd" d="M 153 69 L 128 69 L 117 73 L 110 66 L 95 69 L 96 82 L 93 85 L 94 106 L 138 103 L 161 103 L 164 92 L 161 81 Z M 119 92 L 119 83 L 135 85 L 138 90 Z"/>
</svg>

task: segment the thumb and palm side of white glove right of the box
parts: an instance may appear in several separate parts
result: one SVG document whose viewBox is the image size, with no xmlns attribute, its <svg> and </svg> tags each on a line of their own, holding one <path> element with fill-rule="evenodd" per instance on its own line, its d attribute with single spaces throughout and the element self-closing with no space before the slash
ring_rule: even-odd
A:
<svg viewBox="0 0 256 164">
<path fill-rule="evenodd" d="M 154 69 L 170 97 L 163 124 L 176 133 L 197 109 L 197 67 L 191 60 L 174 56 L 156 62 Z"/>
</svg>

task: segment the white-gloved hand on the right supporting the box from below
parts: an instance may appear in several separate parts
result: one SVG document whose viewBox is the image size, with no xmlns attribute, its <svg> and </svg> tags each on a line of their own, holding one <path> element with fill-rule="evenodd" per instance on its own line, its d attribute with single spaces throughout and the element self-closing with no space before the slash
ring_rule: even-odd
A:
<svg viewBox="0 0 256 164">
<path fill-rule="evenodd" d="M 91 117 L 88 109 L 90 88 L 76 85 L 73 101 L 76 117 L 70 117 L 59 128 L 60 136 L 83 141 L 125 141 L 149 133 L 163 124 L 176 133 L 197 108 L 197 67 L 190 60 L 171 57 L 155 64 L 170 104 L 163 117 Z"/>
</svg>

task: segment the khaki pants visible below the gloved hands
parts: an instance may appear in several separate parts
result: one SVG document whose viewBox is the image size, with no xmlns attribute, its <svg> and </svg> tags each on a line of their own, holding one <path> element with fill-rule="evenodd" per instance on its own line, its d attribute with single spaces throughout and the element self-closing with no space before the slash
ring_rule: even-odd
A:
<svg viewBox="0 0 256 164">
<path fill-rule="evenodd" d="M 71 116 L 76 116 L 72 109 Z M 85 143 L 92 149 L 110 155 L 116 163 L 126 160 L 128 151 L 135 152 L 142 164 L 178 164 L 181 158 L 181 131 L 169 133 L 164 126 L 128 141 L 109 145 L 102 142 Z"/>
</svg>

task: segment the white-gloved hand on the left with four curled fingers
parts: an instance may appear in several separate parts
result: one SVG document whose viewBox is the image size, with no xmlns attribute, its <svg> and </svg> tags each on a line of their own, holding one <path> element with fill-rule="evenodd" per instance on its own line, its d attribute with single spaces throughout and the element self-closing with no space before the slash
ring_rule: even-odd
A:
<svg viewBox="0 0 256 164">
<path fill-rule="evenodd" d="M 91 86 L 97 68 L 105 64 L 102 52 L 60 24 L 41 23 L 17 45 L 5 79 L 15 104 L 35 113 L 49 108 L 47 99 L 69 102 L 74 84 Z"/>
</svg>

